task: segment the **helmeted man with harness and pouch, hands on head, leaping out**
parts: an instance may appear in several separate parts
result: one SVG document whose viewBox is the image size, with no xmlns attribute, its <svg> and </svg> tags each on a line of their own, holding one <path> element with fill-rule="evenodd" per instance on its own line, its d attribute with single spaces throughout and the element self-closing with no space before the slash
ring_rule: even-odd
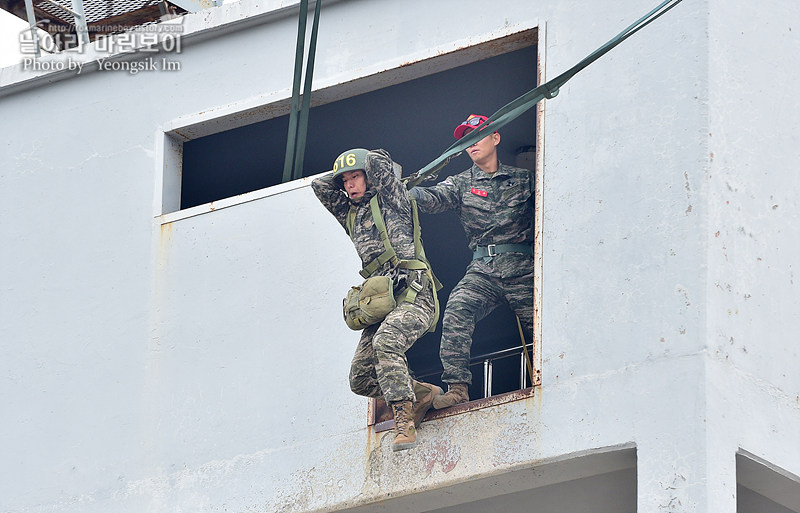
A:
<svg viewBox="0 0 800 513">
<path fill-rule="evenodd" d="M 350 389 L 383 397 L 394 414 L 395 451 L 417 443 L 416 427 L 441 388 L 411 378 L 405 353 L 438 319 L 437 281 L 422 249 L 416 205 L 385 150 L 348 150 L 314 194 L 350 235 L 366 281 L 345 299 L 345 320 L 361 329 Z"/>
</svg>

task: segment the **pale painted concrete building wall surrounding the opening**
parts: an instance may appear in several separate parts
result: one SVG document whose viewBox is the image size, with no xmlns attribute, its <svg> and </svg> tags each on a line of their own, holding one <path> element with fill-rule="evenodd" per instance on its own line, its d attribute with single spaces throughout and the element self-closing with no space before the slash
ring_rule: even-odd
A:
<svg viewBox="0 0 800 513">
<path fill-rule="evenodd" d="M 541 390 L 401 454 L 348 390 L 358 264 L 307 180 L 153 215 L 176 120 L 289 95 L 293 7 L 187 17 L 180 72 L 0 72 L 0 510 L 329 511 L 604 447 L 640 511 L 734 511 L 740 447 L 800 474 L 791 1 L 686 0 L 546 103 Z M 533 27 L 553 77 L 652 7 L 326 2 L 315 84 Z"/>
</svg>

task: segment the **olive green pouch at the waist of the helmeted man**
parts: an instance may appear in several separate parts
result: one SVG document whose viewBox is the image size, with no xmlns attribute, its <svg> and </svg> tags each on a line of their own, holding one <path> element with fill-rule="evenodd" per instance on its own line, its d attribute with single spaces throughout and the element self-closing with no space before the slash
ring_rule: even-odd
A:
<svg viewBox="0 0 800 513">
<path fill-rule="evenodd" d="M 351 330 L 363 330 L 381 322 L 396 306 L 392 279 L 373 276 L 350 288 L 342 301 L 344 322 Z"/>
</svg>

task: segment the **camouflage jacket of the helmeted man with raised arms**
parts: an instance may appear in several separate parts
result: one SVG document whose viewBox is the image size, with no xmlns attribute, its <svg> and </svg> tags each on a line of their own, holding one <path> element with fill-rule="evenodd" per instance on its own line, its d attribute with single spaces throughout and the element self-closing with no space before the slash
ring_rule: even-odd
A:
<svg viewBox="0 0 800 513">
<path fill-rule="evenodd" d="M 403 259 L 414 258 L 414 231 L 411 220 L 411 200 L 405 186 L 392 170 L 392 159 L 385 150 L 373 150 L 367 154 L 365 165 L 367 192 L 359 200 L 351 200 L 333 180 L 333 173 L 317 178 L 311 182 L 311 188 L 319 201 L 330 211 L 342 227 L 347 231 L 347 214 L 350 206 L 356 207 L 353 224 L 353 244 L 362 267 L 377 258 L 384 251 L 380 233 L 372 220 L 369 201 L 377 194 L 378 201 L 386 223 L 389 243 Z M 393 275 L 391 262 L 378 269 L 373 276 Z"/>
</svg>

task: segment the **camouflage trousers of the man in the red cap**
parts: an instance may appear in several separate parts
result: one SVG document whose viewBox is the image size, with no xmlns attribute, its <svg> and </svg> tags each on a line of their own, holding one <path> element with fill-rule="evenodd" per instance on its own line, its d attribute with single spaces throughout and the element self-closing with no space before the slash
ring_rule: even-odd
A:
<svg viewBox="0 0 800 513">
<path fill-rule="evenodd" d="M 533 259 L 529 262 L 529 272 L 526 262 L 521 276 L 504 277 L 505 273 L 494 272 L 480 261 L 467 267 L 450 293 L 442 319 L 442 381 L 472 383 L 469 360 L 475 324 L 503 303 L 519 317 L 526 340 L 533 340 Z"/>
</svg>

